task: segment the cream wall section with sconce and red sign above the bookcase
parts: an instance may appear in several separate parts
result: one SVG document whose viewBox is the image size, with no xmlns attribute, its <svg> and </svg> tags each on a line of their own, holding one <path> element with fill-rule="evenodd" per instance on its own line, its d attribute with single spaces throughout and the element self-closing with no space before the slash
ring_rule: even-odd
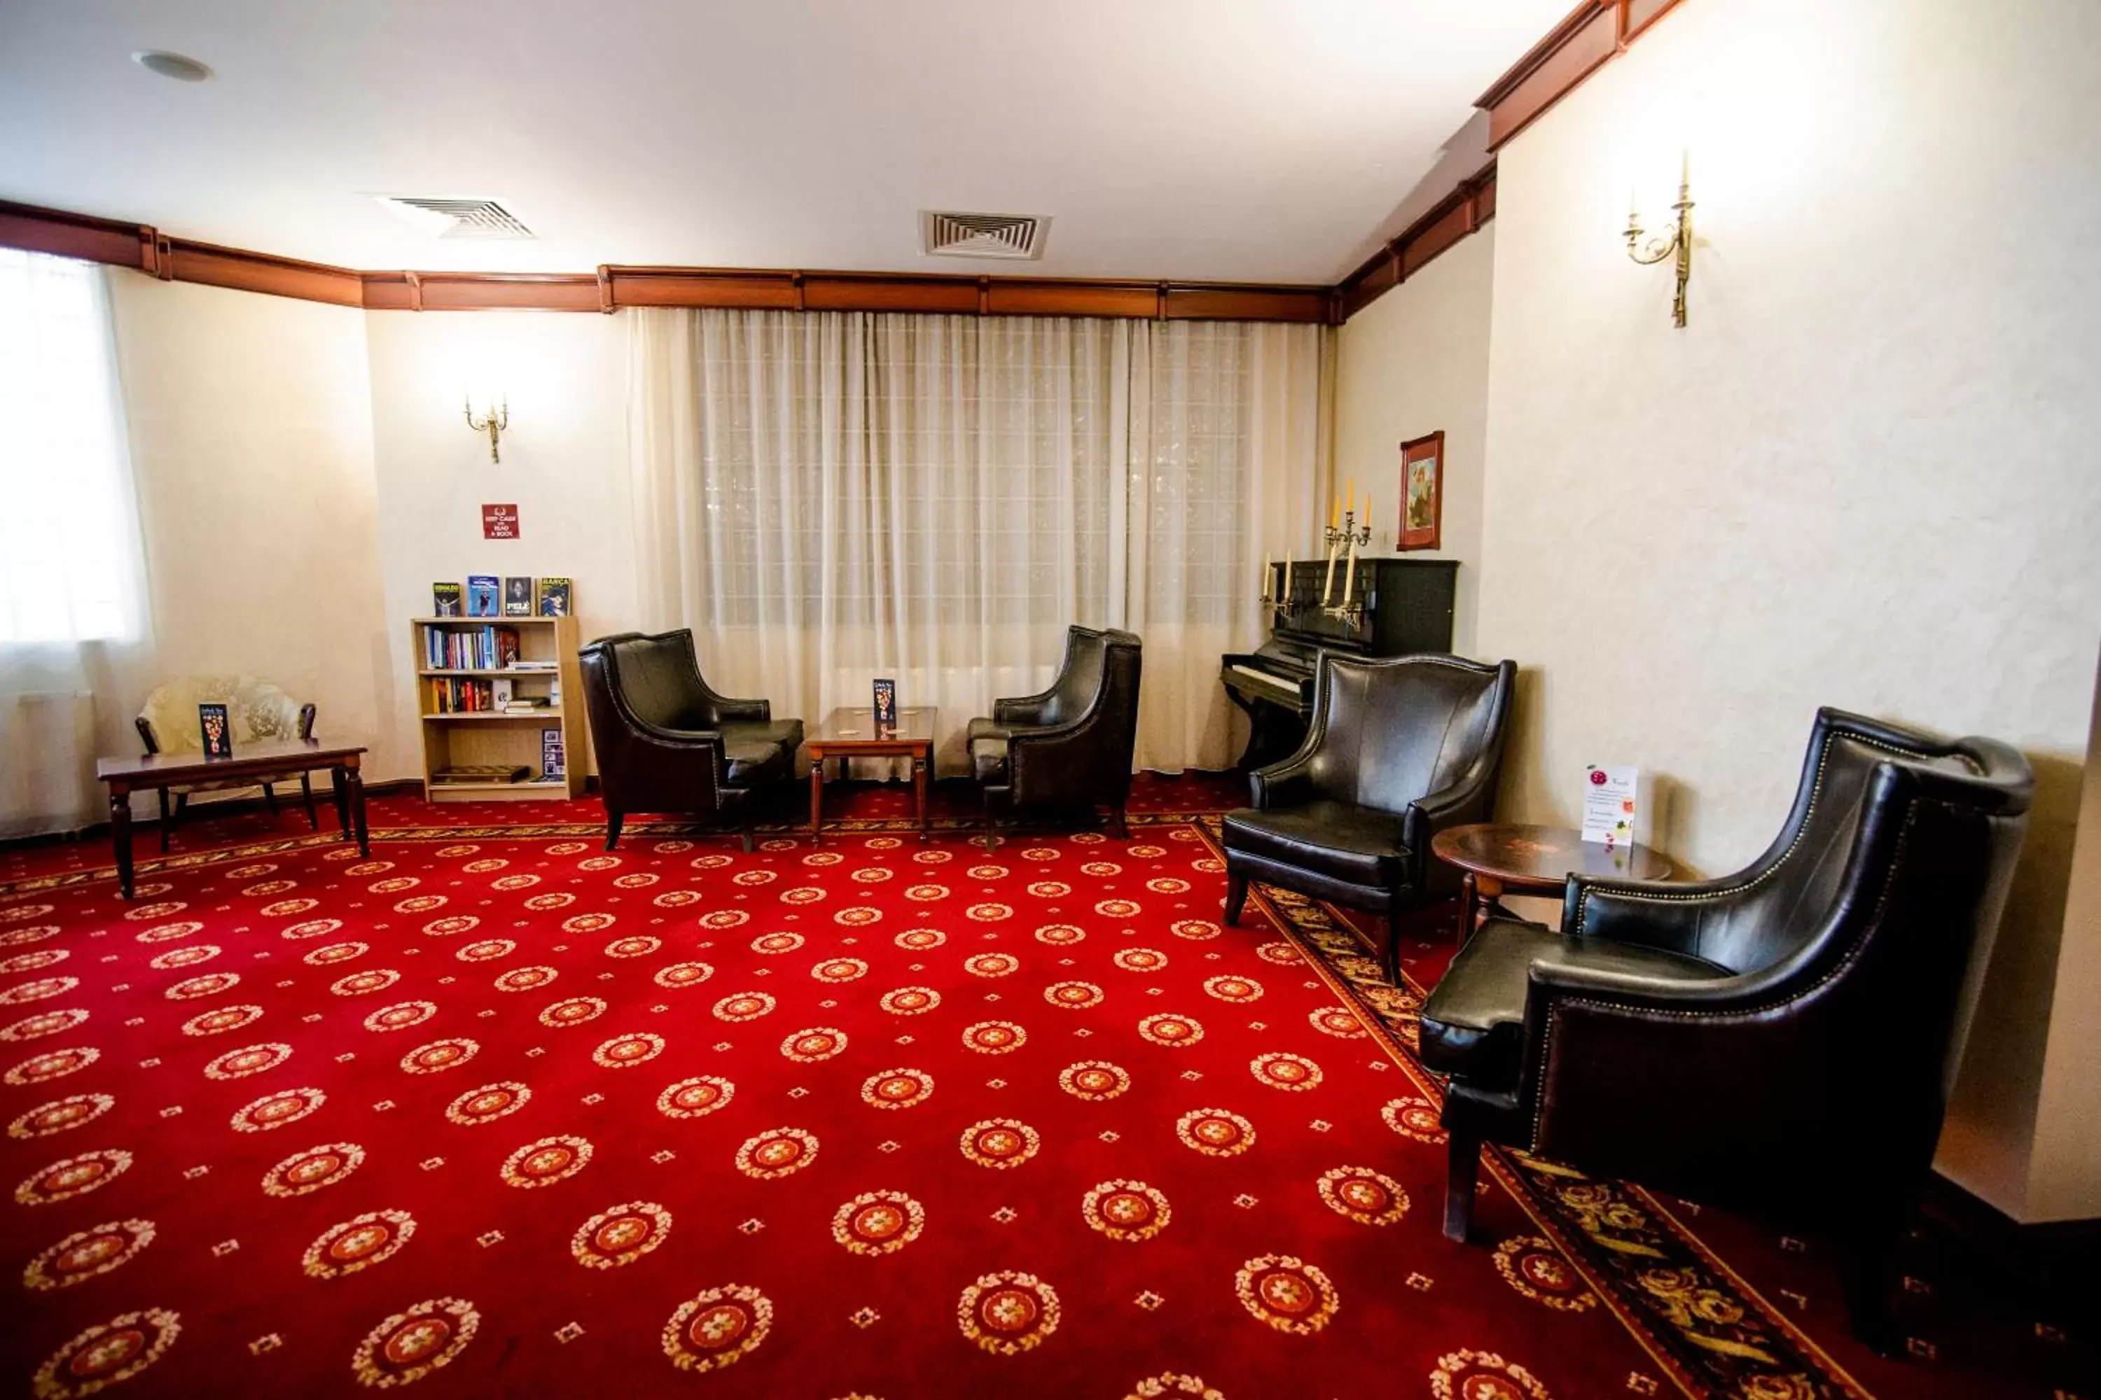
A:
<svg viewBox="0 0 2101 1400">
<path fill-rule="evenodd" d="M 378 575 L 401 682 L 389 697 L 416 743 L 410 617 L 431 584 L 471 573 L 576 579 L 588 640 L 637 625 L 628 518 L 626 325 L 546 311 L 366 313 L 378 464 Z M 462 397 L 508 395 L 502 462 Z M 515 504 L 517 539 L 483 539 L 481 506 Z M 422 772 L 414 747 L 399 777 Z"/>
</svg>

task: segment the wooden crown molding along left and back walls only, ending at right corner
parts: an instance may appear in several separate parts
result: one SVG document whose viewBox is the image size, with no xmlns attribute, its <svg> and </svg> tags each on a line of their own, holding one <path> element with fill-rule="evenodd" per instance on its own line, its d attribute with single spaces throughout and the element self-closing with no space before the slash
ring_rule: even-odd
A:
<svg viewBox="0 0 2101 1400">
<path fill-rule="evenodd" d="M 595 273 L 361 273 L 267 252 L 168 237 L 151 225 L 0 204 L 0 246 L 130 267 L 162 281 L 296 296 L 366 311 L 624 311 L 773 306 L 954 315 L 1135 317 L 1147 321 L 1330 319 L 1332 288 L 618 267 Z"/>
</svg>

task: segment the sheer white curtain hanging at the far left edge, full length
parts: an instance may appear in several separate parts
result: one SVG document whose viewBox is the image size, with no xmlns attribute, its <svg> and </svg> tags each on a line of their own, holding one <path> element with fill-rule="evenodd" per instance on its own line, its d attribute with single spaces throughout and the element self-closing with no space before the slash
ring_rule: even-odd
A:
<svg viewBox="0 0 2101 1400">
<path fill-rule="evenodd" d="M 149 646 L 105 277 L 0 250 L 0 835 L 95 821 Z"/>
</svg>

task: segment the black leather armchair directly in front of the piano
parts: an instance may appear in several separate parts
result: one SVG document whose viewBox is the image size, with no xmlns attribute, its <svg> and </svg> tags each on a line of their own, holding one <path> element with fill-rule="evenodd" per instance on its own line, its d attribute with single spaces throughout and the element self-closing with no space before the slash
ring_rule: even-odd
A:
<svg viewBox="0 0 2101 1400">
<path fill-rule="evenodd" d="M 1511 661 L 1324 653 L 1305 743 L 1250 775 L 1252 808 L 1225 814 L 1225 921 L 1240 921 L 1250 879 L 1378 909 L 1399 984 L 1399 917 L 1458 892 L 1431 837 L 1496 810 L 1515 680 Z"/>
</svg>

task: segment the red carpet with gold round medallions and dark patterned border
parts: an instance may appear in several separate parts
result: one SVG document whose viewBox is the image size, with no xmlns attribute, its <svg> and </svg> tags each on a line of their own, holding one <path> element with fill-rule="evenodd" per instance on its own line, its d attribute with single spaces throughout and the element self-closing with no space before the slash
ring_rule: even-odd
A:
<svg viewBox="0 0 2101 1400">
<path fill-rule="evenodd" d="M 1811 1253 L 1523 1159 L 1485 1243 L 1445 1243 L 1418 995 L 1332 911 L 1221 930 L 1202 821 L 1158 806 L 987 856 L 893 833 L 891 796 L 821 850 L 658 827 L 611 856 L 561 825 L 592 804 L 382 802 L 370 861 L 284 827 L 132 905 L 48 856 L 99 848 L 29 852 L 0 886 L 0 1375 L 2051 1394 L 2030 1358 L 1866 1356 Z"/>
</svg>

